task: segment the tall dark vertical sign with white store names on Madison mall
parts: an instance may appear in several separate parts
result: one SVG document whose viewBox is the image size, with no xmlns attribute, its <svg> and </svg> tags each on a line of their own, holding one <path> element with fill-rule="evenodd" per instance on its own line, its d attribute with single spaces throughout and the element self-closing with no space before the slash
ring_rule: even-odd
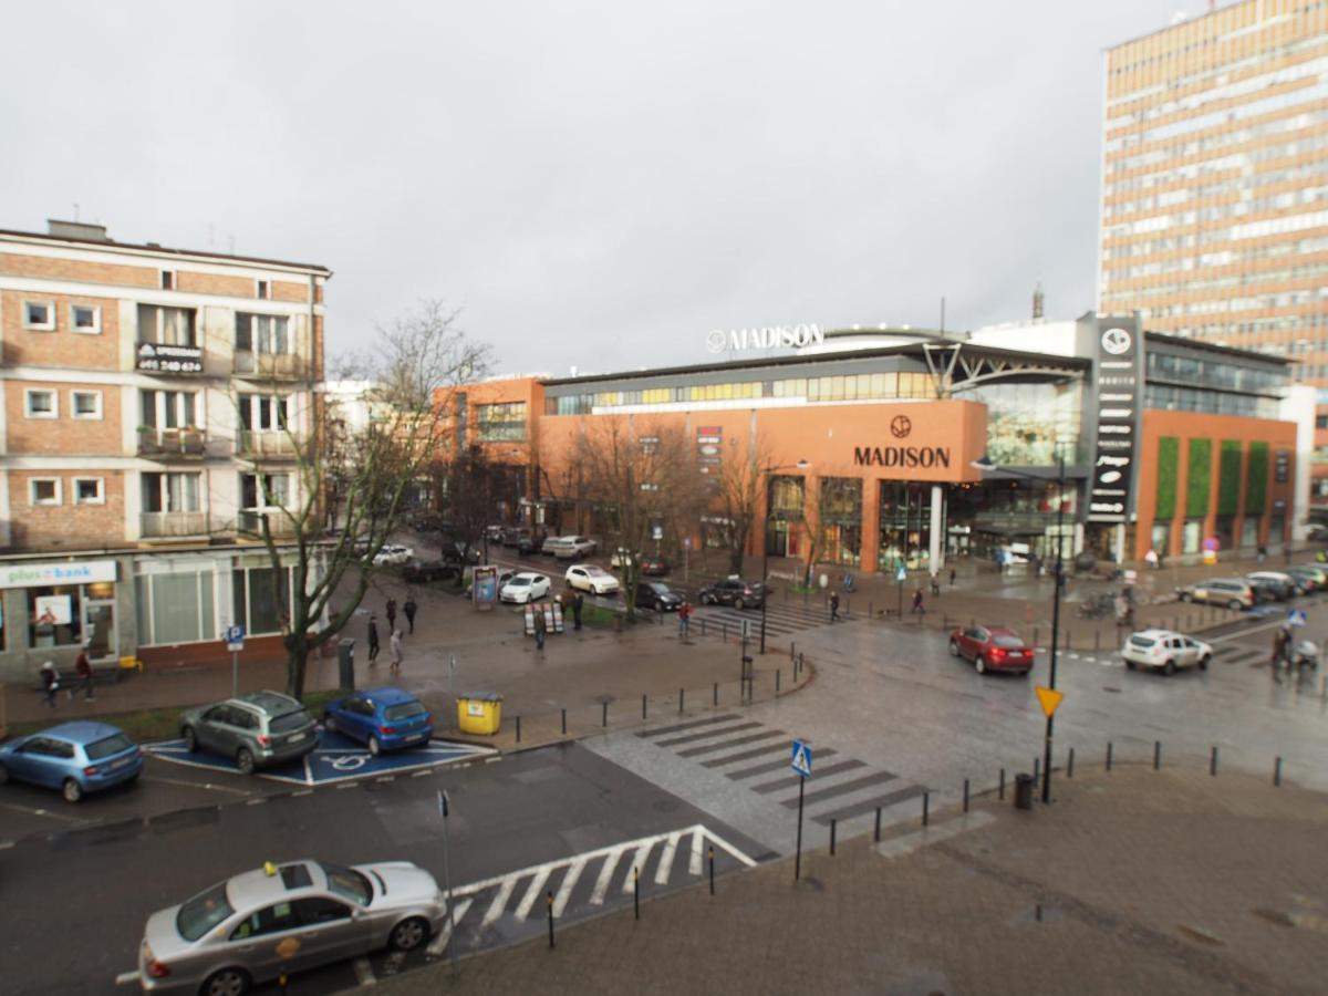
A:
<svg viewBox="0 0 1328 996">
<path fill-rule="evenodd" d="M 1129 518 L 1143 389 L 1142 335 L 1134 317 L 1102 319 L 1097 325 L 1097 452 L 1089 485 L 1089 522 Z"/>
</svg>

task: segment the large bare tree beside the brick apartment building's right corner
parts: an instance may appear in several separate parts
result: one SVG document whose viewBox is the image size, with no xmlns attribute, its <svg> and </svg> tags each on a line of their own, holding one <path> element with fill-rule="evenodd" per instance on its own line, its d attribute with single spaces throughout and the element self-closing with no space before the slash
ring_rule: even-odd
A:
<svg viewBox="0 0 1328 996">
<path fill-rule="evenodd" d="M 373 352 L 341 365 L 372 384 L 364 398 L 367 424 L 348 425 L 345 413 L 315 390 L 321 371 L 311 364 L 309 401 L 299 412 L 283 409 L 279 429 L 268 433 L 266 445 L 275 452 L 242 446 L 254 465 L 260 503 L 258 511 L 242 513 L 238 529 L 262 540 L 283 579 L 291 695 L 304 691 L 309 653 L 340 632 L 364 599 L 374 556 L 401 525 L 428 481 L 434 453 L 450 436 L 453 390 L 482 374 L 487 360 L 489 347 L 457 325 L 457 311 L 438 300 L 421 301 L 378 329 Z"/>
</svg>

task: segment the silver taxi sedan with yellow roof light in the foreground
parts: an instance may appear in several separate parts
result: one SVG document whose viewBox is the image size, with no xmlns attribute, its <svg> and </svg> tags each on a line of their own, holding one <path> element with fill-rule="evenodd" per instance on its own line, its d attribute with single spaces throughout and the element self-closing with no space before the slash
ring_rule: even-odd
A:
<svg viewBox="0 0 1328 996">
<path fill-rule="evenodd" d="M 150 992 L 239 996 L 378 948 L 409 951 L 445 916 L 438 883 L 409 862 L 268 862 L 149 916 L 138 979 Z"/>
</svg>

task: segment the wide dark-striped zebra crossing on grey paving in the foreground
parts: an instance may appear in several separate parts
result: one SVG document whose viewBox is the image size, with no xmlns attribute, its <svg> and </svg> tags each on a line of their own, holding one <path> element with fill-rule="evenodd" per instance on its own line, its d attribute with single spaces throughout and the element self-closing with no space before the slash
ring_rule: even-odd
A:
<svg viewBox="0 0 1328 996">
<path fill-rule="evenodd" d="M 798 777 L 789 768 L 793 737 L 737 713 L 709 716 L 641 730 L 639 740 L 659 750 L 722 774 L 734 790 L 749 791 L 782 810 L 798 806 Z M 894 772 L 846 757 L 834 748 L 817 746 L 811 781 L 803 790 L 806 818 L 821 826 L 835 821 L 843 833 L 866 829 L 867 819 L 882 810 L 883 822 L 916 815 L 926 786 Z M 907 809 L 900 809 L 907 806 Z M 862 822 L 849 825 L 851 821 Z"/>
</svg>

